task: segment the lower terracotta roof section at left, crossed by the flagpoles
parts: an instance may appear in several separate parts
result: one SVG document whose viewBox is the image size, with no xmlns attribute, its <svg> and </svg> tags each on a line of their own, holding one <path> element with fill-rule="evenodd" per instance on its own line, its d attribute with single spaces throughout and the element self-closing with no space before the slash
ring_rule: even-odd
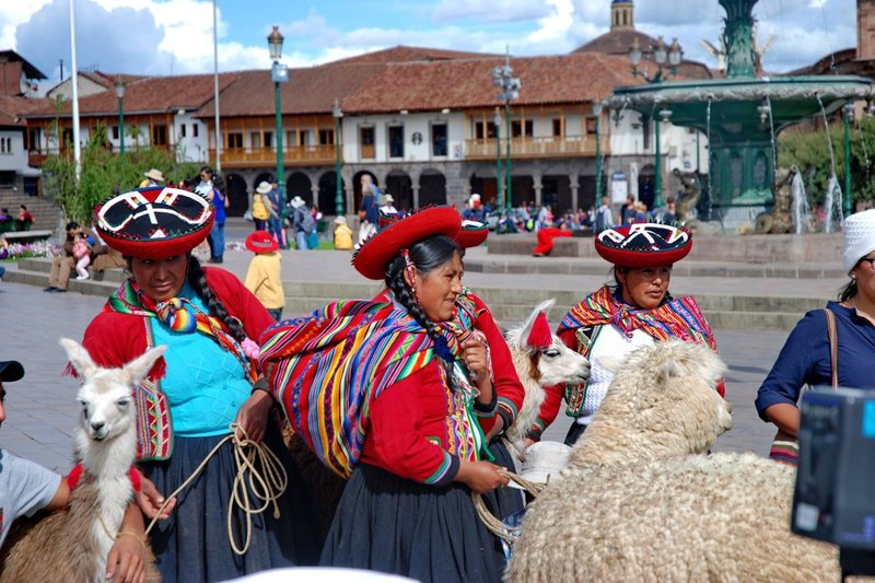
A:
<svg viewBox="0 0 875 583">
<path fill-rule="evenodd" d="M 228 88 L 242 73 L 220 73 L 219 91 Z M 187 74 L 174 77 L 149 77 L 128 83 L 125 86 L 125 113 L 170 113 L 177 109 L 197 109 L 212 98 L 212 74 Z M 66 102 L 61 116 L 70 115 L 71 104 Z M 82 117 L 116 115 L 118 97 L 114 91 L 104 91 L 79 100 L 79 114 Z M 55 117 L 51 104 L 44 106 L 27 117 Z"/>
</svg>

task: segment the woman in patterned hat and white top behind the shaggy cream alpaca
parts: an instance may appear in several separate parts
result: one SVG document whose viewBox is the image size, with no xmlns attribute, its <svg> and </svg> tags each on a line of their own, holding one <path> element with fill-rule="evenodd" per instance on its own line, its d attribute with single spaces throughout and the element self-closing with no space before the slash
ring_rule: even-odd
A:
<svg viewBox="0 0 875 583">
<path fill-rule="evenodd" d="M 565 436 L 573 445 L 584 432 L 607 393 L 612 373 L 599 357 L 612 359 L 638 348 L 677 338 L 708 345 L 716 342 L 696 300 L 672 298 L 672 266 L 687 256 L 692 238 L 687 231 L 656 223 L 635 223 L 600 232 L 595 237 L 598 255 L 614 264 L 614 284 L 606 284 L 571 308 L 557 334 L 592 364 L 583 385 L 550 387 L 529 439 L 538 441 L 556 419 L 564 398 L 567 415 L 574 418 Z M 723 383 L 718 387 L 723 395 Z"/>
</svg>

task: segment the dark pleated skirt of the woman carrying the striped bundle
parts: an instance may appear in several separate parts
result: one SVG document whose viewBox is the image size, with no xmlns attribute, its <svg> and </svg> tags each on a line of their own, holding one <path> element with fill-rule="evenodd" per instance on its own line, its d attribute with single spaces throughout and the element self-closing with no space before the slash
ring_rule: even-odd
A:
<svg viewBox="0 0 875 583">
<path fill-rule="evenodd" d="M 466 486 L 435 488 L 362 464 L 343 490 L 322 564 L 423 583 L 498 583 L 505 560 Z"/>
</svg>

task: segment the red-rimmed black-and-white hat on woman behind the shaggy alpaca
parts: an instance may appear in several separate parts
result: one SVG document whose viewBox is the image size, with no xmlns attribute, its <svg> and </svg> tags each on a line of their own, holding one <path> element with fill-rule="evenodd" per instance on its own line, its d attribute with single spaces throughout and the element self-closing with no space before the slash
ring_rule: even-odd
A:
<svg viewBox="0 0 875 583">
<path fill-rule="evenodd" d="M 679 261 L 692 249 L 689 232 L 657 223 L 635 223 L 602 231 L 595 250 L 614 265 L 658 267 Z"/>
</svg>

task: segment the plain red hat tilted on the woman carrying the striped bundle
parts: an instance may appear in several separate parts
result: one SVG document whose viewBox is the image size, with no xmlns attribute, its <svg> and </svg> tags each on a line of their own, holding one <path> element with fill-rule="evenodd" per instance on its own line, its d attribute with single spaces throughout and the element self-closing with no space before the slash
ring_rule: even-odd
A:
<svg viewBox="0 0 875 583">
<path fill-rule="evenodd" d="M 462 218 L 453 207 L 430 207 L 390 221 L 376 235 L 365 241 L 352 257 L 352 267 L 368 279 L 386 277 L 386 264 L 401 249 L 434 235 L 455 238 Z"/>
</svg>

